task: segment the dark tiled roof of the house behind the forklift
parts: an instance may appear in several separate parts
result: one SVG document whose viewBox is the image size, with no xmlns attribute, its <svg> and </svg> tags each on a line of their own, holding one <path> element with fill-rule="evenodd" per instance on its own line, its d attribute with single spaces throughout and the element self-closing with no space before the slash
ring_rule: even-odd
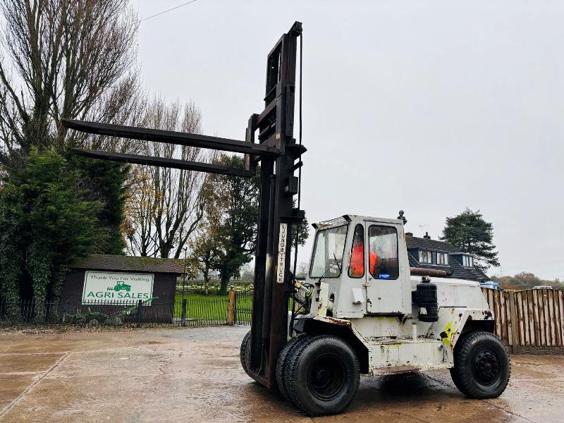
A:
<svg viewBox="0 0 564 423">
<path fill-rule="evenodd" d="M 464 267 L 458 262 L 453 255 L 462 255 L 458 248 L 449 243 L 439 240 L 431 240 L 427 238 L 417 238 L 415 236 L 406 236 L 405 243 L 407 245 L 407 256 L 410 260 L 411 267 L 421 267 L 423 269 L 446 270 L 449 278 L 467 279 L 470 281 L 489 281 L 489 277 L 484 274 L 479 267 Z M 438 264 L 419 263 L 419 257 L 414 257 L 409 250 L 427 250 L 434 252 L 448 252 L 448 266 Z"/>
</svg>

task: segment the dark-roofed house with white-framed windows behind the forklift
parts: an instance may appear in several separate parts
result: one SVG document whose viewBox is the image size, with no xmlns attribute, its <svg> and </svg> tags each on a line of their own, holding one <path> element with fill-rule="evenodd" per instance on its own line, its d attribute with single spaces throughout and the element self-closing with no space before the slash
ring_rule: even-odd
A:
<svg viewBox="0 0 564 423">
<path fill-rule="evenodd" d="M 448 278 L 467 279 L 470 281 L 489 281 L 482 269 L 474 265 L 474 258 L 444 241 L 431 240 L 429 233 L 417 238 L 412 233 L 405 233 L 407 257 L 411 267 L 446 271 Z"/>
</svg>

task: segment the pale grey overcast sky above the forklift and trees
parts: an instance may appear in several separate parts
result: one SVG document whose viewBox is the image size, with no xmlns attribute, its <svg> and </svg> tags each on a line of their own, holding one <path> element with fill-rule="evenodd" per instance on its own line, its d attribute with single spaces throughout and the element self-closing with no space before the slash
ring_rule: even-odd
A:
<svg viewBox="0 0 564 423">
<path fill-rule="evenodd" d="M 185 1 L 132 3 L 148 18 Z M 197 0 L 140 23 L 145 85 L 192 99 L 205 134 L 244 140 L 295 20 L 310 222 L 403 209 L 406 231 L 437 239 L 479 209 L 501 262 L 489 274 L 564 279 L 563 2 Z"/>
</svg>

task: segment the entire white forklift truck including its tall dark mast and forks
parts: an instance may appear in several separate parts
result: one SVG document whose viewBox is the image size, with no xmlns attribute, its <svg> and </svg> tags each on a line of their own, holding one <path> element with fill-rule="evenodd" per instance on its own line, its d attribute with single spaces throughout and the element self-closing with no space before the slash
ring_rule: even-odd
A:
<svg viewBox="0 0 564 423">
<path fill-rule="evenodd" d="M 292 271 L 290 252 L 295 242 L 296 253 L 298 243 L 291 234 L 305 216 L 300 209 L 306 152 L 301 136 L 302 39 L 302 24 L 296 22 L 268 54 L 264 110 L 250 116 L 244 141 L 63 120 L 66 128 L 85 133 L 245 154 L 244 169 L 91 149 L 73 152 L 243 178 L 254 176 L 260 164 L 252 326 L 241 343 L 240 361 L 252 379 L 279 391 L 305 414 L 345 410 L 357 393 L 360 374 L 450 369 L 465 396 L 500 396 L 508 384 L 510 359 L 494 336 L 494 314 L 479 284 L 450 278 L 446 271 L 410 267 L 403 212 L 398 219 L 347 214 L 314 224 L 309 274 L 304 282 L 295 280 L 296 255 Z"/>
</svg>

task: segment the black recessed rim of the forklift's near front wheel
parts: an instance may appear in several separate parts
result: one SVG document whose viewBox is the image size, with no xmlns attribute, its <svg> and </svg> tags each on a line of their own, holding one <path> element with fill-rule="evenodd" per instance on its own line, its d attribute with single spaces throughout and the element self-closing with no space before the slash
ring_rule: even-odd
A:
<svg viewBox="0 0 564 423">
<path fill-rule="evenodd" d="M 309 365 L 307 386 L 319 400 L 336 398 L 345 387 L 345 367 L 339 357 L 322 354 Z"/>
</svg>

